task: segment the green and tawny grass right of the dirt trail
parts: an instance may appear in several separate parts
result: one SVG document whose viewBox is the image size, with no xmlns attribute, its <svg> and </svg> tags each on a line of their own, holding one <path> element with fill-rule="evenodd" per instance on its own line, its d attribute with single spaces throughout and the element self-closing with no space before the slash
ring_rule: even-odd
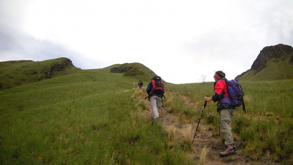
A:
<svg viewBox="0 0 293 165">
<path fill-rule="evenodd" d="M 273 160 L 277 162 L 292 162 L 293 79 L 240 81 L 240 83 L 244 90 L 247 113 L 242 111 L 242 107 L 236 107 L 231 125 L 232 131 L 241 136 L 241 142 L 246 146 L 245 152 L 253 159 L 259 159 L 265 153 L 270 152 L 273 154 Z M 188 96 L 190 100 L 199 105 L 193 112 L 196 114 L 195 118 L 201 112 L 204 96 L 211 97 L 214 94 L 212 82 L 168 87 L 168 91 Z M 176 99 L 172 98 L 172 100 Z M 170 105 L 174 106 L 175 102 Z M 179 101 L 179 105 L 181 103 L 182 101 Z M 179 105 L 172 108 L 184 109 Z M 216 103 L 208 102 L 203 113 L 207 119 L 201 120 L 202 123 L 212 124 L 215 131 L 219 130 L 219 118 L 216 114 Z"/>
</svg>

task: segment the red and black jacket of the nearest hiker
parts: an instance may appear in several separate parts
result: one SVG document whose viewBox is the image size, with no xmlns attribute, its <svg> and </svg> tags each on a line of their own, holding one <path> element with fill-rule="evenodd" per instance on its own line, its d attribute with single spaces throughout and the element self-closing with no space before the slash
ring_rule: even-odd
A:
<svg viewBox="0 0 293 165">
<path fill-rule="evenodd" d="M 226 81 L 228 81 L 226 78 L 220 78 L 219 81 L 214 83 L 215 94 L 212 96 L 212 99 L 214 102 L 218 101 L 217 112 L 226 108 L 235 109 L 229 101 L 225 101 L 227 100 L 226 98 L 229 98 Z"/>
</svg>

